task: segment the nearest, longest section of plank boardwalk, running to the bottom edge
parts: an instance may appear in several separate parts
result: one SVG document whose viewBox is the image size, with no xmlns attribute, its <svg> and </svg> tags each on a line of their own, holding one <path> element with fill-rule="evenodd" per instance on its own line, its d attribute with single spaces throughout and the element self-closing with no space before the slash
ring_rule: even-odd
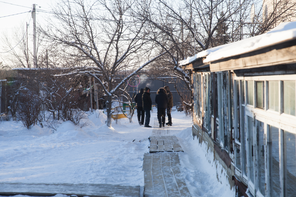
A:
<svg viewBox="0 0 296 197">
<path fill-rule="evenodd" d="M 176 152 L 145 153 L 143 161 L 145 197 L 190 197 L 180 172 Z"/>
</svg>

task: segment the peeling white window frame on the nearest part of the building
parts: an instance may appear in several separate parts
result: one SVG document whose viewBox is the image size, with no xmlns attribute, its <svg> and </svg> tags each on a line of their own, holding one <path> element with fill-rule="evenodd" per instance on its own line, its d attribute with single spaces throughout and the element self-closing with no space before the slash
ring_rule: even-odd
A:
<svg viewBox="0 0 296 197">
<path fill-rule="evenodd" d="M 276 128 L 279 128 L 279 167 L 280 167 L 280 188 L 284 188 L 281 189 L 281 197 L 286 196 L 287 194 L 287 188 L 285 187 L 285 184 L 287 184 L 287 155 L 285 154 L 285 137 L 284 137 L 284 132 L 290 132 L 290 133 L 294 133 L 296 134 L 296 117 L 294 115 L 289 115 L 289 114 L 285 114 L 283 113 L 283 81 L 295 81 L 296 83 L 296 74 L 287 74 L 287 75 L 269 75 L 269 76 L 235 76 L 234 77 L 235 80 L 239 80 L 239 85 L 242 84 L 242 80 L 245 81 L 253 81 L 253 95 L 255 97 L 255 91 L 257 91 L 256 87 L 255 87 L 255 83 L 256 81 L 264 81 L 264 109 L 261 108 L 256 108 L 256 99 L 254 98 L 253 100 L 253 104 L 254 105 L 249 105 L 246 104 L 245 105 L 245 131 L 247 131 L 247 138 L 249 137 L 249 129 L 248 129 L 248 122 L 247 122 L 247 116 L 253 117 L 253 121 L 255 121 L 255 124 L 253 124 L 253 144 L 256 145 L 256 141 L 255 141 L 255 136 L 257 135 L 257 124 L 258 121 L 261 121 L 264 123 L 264 135 L 265 135 L 265 150 L 264 150 L 264 155 L 265 155 L 265 182 L 266 182 L 266 194 L 261 194 L 260 192 L 258 192 L 258 188 L 255 185 L 258 185 L 258 173 L 259 170 L 258 168 L 258 162 L 257 162 L 257 166 L 256 166 L 256 162 L 255 162 L 255 158 L 257 157 L 256 154 L 259 154 L 258 152 L 255 152 L 254 156 L 254 184 L 252 184 L 252 182 L 250 183 L 250 151 L 247 151 L 247 167 L 248 167 L 248 172 L 247 172 L 247 176 L 248 176 L 248 188 L 250 189 L 250 192 L 254 195 L 256 192 L 257 196 L 271 196 L 271 192 L 273 191 L 273 188 L 271 188 L 272 184 L 272 175 L 271 172 L 272 170 L 270 170 L 271 166 L 271 162 L 270 159 L 272 159 L 272 152 L 271 152 L 271 147 L 272 144 L 270 143 L 270 132 L 269 131 L 269 126 L 274 126 Z M 273 111 L 273 110 L 269 110 L 268 109 L 268 81 L 279 81 L 279 111 Z M 244 88 L 245 90 L 247 90 L 247 85 L 246 83 L 244 83 Z M 239 92 L 239 97 L 240 97 L 240 110 L 241 113 L 240 115 L 242 115 L 242 107 L 244 106 L 242 103 L 242 95 L 243 92 L 240 91 Z M 296 97 L 296 95 L 295 95 Z M 247 103 L 247 91 L 245 91 L 245 102 Z M 242 117 L 242 116 L 241 116 Z M 243 146 L 243 137 L 242 137 L 242 133 L 241 133 L 241 145 Z M 249 149 L 249 141 L 247 143 L 247 150 Z M 241 165 L 243 168 L 244 162 L 244 156 L 243 156 L 243 148 L 241 146 Z M 256 148 L 258 151 L 257 145 Z M 257 158 L 258 159 L 258 158 Z M 256 167 L 256 168 L 255 168 Z M 242 170 L 243 171 L 243 170 Z M 256 175 L 257 173 L 257 175 Z M 257 177 L 257 178 L 256 178 Z M 257 180 L 256 180 L 257 179 Z"/>
</svg>

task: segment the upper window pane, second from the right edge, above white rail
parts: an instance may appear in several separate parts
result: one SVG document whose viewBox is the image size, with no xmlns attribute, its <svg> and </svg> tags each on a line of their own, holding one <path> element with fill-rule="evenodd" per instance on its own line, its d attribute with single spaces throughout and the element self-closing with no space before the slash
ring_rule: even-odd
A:
<svg viewBox="0 0 296 197">
<path fill-rule="evenodd" d="M 268 82 L 268 109 L 279 111 L 279 81 Z"/>
</svg>

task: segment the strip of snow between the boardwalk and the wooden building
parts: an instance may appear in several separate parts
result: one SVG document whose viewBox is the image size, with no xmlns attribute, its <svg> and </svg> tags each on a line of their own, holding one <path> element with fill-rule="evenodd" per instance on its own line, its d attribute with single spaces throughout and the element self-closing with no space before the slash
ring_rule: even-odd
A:
<svg viewBox="0 0 296 197">
<path fill-rule="evenodd" d="M 226 170 L 219 161 L 214 161 L 214 154 L 207 150 L 207 144 L 193 140 L 192 127 L 176 135 L 184 152 L 179 152 L 181 173 L 192 197 L 231 197 L 235 196 L 226 176 Z M 218 177 L 218 179 L 217 179 Z"/>
</svg>

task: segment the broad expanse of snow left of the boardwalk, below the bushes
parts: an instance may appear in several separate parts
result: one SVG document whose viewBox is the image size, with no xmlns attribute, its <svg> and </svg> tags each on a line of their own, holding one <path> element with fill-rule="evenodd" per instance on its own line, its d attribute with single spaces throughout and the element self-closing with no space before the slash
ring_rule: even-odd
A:
<svg viewBox="0 0 296 197">
<path fill-rule="evenodd" d="M 0 182 L 144 186 L 142 165 L 149 134 L 141 132 L 135 140 L 139 124 L 128 127 L 128 120 L 123 125 L 118 120 L 118 125 L 112 121 L 114 128 L 108 128 L 106 115 L 99 112 L 88 116 L 89 126 L 80 128 L 66 121 L 53 133 L 37 125 L 28 130 L 17 122 L 2 122 Z"/>
</svg>

